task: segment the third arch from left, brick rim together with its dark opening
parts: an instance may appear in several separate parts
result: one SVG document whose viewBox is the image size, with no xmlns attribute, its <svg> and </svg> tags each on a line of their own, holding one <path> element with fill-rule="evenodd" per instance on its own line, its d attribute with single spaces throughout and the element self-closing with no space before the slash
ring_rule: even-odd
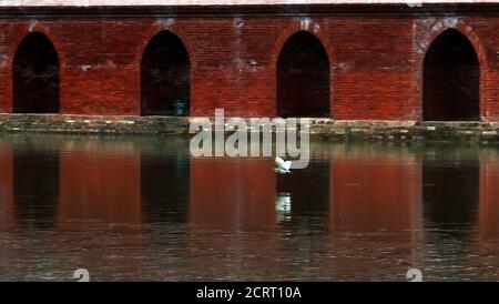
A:
<svg viewBox="0 0 499 304">
<path fill-rule="evenodd" d="M 332 116 L 332 49 L 328 42 L 324 43 L 327 40 L 317 28 L 318 23 L 310 23 L 307 21 L 304 26 L 303 20 L 293 23 L 276 40 L 272 55 L 276 115 Z M 292 42 L 298 44 L 288 44 Z M 301 55 L 293 45 L 308 49 L 312 53 Z M 320 50 L 308 45 L 317 45 Z"/>
</svg>

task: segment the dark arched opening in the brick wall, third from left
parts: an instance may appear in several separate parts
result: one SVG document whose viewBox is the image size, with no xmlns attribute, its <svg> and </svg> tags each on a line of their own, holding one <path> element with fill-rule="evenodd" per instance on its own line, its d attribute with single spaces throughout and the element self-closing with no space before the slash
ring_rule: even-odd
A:
<svg viewBox="0 0 499 304">
<path fill-rule="evenodd" d="M 283 45 L 277 61 L 277 115 L 329 116 L 330 68 L 322 42 L 298 31 Z"/>
</svg>

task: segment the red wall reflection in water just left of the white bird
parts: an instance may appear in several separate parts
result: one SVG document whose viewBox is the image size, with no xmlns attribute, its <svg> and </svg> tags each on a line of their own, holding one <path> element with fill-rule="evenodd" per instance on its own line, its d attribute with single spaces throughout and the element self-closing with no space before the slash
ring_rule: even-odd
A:
<svg viewBox="0 0 499 304">
<path fill-rule="evenodd" d="M 192 159 L 190 221 L 234 230 L 275 225 L 272 160 Z"/>
</svg>

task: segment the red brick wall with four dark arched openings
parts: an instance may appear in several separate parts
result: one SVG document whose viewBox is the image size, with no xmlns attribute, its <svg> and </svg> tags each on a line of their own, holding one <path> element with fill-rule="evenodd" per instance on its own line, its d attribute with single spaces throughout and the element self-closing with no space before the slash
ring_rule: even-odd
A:
<svg viewBox="0 0 499 304">
<path fill-rule="evenodd" d="M 298 11 L 299 12 L 299 11 Z M 449 17 L 451 16 L 451 17 Z M 422 62 L 431 41 L 456 28 L 480 61 L 480 113 L 499 119 L 499 18 L 394 13 L 50 16 L 0 18 L 0 112 L 12 111 L 12 61 L 30 31 L 58 51 L 61 112 L 140 114 L 140 63 L 151 38 L 171 30 L 191 59 L 191 113 L 276 113 L 276 64 L 299 30 L 314 33 L 330 63 L 330 115 L 335 119 L 421 119 Z"/>
</svg>

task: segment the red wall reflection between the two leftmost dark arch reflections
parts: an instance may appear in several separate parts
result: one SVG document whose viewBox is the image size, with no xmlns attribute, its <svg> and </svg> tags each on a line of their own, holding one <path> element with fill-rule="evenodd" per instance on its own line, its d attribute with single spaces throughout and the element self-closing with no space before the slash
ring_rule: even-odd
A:
<svg viewBox="0 0 499 304">
<path fill-rule="evenodd" d="M 68 140 L 61 154 L 60 219 L 140 223 L 140 153 L 132 142 Z"/>
</svg>

